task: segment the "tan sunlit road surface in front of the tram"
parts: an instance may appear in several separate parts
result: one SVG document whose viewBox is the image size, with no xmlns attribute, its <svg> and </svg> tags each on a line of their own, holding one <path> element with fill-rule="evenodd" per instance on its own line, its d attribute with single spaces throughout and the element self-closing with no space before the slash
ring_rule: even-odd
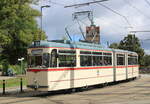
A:
<svg viewBox="0 0 150 104">
<path fill-rule="evenodd" d="M 31 97 L 23 94 L 0 95 L 0 104 L 150 104 L 150 75 L 104 88 L 67 94 Z"/>
</svg>

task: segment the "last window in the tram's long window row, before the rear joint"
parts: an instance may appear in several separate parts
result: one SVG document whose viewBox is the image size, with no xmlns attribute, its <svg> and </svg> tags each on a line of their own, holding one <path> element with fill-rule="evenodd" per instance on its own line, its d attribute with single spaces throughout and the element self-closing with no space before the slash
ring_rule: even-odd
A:
<svg viewBox="0 0 150 104">
<path fill-rule="evenodd" d="M 103 53 L 103 65 L 112 65 L 112 53 Z"/>
</svg>

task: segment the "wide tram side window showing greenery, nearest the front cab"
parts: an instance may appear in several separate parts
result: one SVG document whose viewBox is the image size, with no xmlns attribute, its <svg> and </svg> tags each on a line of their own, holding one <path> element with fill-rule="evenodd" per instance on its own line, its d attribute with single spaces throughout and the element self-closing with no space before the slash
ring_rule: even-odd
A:
<svg viewBox="0 0 150 104">
<path fill-rule="evenodd" d="M 59 62 L 59 67 L 75 67 L 76 52 L 72 50 L 59 51 L 58 62 Z"/>
</svg>

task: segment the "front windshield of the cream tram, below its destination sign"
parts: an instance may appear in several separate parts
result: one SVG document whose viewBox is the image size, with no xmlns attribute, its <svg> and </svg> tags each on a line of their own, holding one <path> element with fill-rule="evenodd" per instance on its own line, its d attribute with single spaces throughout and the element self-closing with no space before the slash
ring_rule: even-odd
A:
<svg viewBox="0 0 150 104">
<path fill-rule="evenodd" d="M 30 55 L 29 56 L 29 67 L 49 67 L 49 54 L 44 53 L 42 55 Z"/>
</svg>

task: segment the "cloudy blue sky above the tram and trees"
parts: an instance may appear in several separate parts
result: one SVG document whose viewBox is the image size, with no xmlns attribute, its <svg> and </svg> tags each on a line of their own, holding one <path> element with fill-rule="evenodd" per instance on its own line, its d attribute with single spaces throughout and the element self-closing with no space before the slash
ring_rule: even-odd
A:
<svg viewBox="0 0 150 104">
<path fill-rule="evenodd" d="M 85 10 L 93 11 L 94 22 L 95 25 L 100 26 L 101 43 L 104 46 L 107 41 L 109 43 L 119 42 L 131 30 L 150 30 L 150 4 L 148 4 L 150 0 L 109 0 L 102 3 L 125 16 L 133 28 L 128 28 L 130 26 L 122 16 L 98 4 L 80 8 L 64 8 L 65 5 L 89 1 L 92 0 L 43 0 L 39 5 L 33 7 L 40 10 L 41 5 L 51 5 L 50 8 L 43 8 L 43 30 L 49 40 L 62 39 L 65 36 L 65 27 L 68 27 L 74 40 L 81 37 L 79 26 L 76 21 L 73 21 L 72 14 Z M 40 19 L 37 20 L 40 21 Z M 81 26 L 85 31 L 86 25 L 90 25 L 90 22 L 88 18 L 82 22 Z M 150 38 L 150 33 L 136 33 L 135 35 L 141 40 L 145 51 L 150 53 L 150 40 L 145 40 Z"/>
</svg>

